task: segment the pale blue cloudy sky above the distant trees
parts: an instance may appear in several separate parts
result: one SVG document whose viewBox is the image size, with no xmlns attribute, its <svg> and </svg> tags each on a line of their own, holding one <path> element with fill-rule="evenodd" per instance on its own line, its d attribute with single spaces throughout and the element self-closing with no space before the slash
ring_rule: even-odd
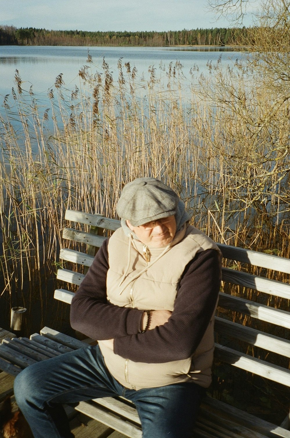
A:
<svg viewBox="0 0 290 438">
<path fill-rule="evenodd" d="M 244 24 L 252 24 L 250 12 Z M 207 0 L 0 0 L 0 25 L 133 32 L 233 27 L 217 20 Z"/>
</svg>

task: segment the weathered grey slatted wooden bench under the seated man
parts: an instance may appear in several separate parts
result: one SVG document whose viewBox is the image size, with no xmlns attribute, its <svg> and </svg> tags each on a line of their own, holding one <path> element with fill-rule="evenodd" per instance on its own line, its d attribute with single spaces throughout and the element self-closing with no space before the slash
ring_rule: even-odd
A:
<svg viewBox="0 0 290 438">
<path fill-rule="evenodd" d="M 63 238 L 71 241 L 73 249 L 61 249 L 60 259 L 65 267 L 58 270 L 57 278 L 63 284 L 70 283 L 76 287 L 91 265 L 96 249 L 120 223 L 100 215 L 72 210 L 66 211 L 65 218 L 74 227 L 65 228 Z M 225 380 L 222 375 L 231 374 L 227 367 L 230 370 L 240 368 L 244 370 L 241 371 L 244 373 L 241 378 L 245 386 L 247 381 L 251 382 L 258 376 L 273 381 L 274 385 L 289 388 L 290 313 L 287 303 L 289 306 L 290 260 L 218 245 L 223 253 L 224 267 L 215 322 L 217 343 L 214 381 L 219 384 Z M 288 274 L 288 277 L 281 273 Z M 55 291 L 55 298 L 70 304 L 73 293 L 64 286 Z M 284 306 L 283 310 L 273 305 L 278 302 L 282 303 L 281 307 Z M 86 342 L 88 340 L 80 341 L 47 327 L 40 334 L 31 335 L 30 339 L 4 339 L 0 345 L 0 368 L 16 375 L 37 360 L 83 348 Z M 279 397 L 275 393 L 269 393 L 268 396 L 274 402 L 275 397 Z M 81 402 L 75 409 L 128 437 L 142 436 L 136 409 L 125 399 L 96 399 Z M 277 426 L 206 396 L 192 436 L 290 438 L 289 428 L 289 415 Z"/>
</svg>

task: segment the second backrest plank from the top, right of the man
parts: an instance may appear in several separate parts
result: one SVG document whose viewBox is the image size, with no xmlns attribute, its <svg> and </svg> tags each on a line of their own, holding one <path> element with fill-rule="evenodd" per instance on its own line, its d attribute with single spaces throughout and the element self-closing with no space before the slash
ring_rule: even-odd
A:
<svg viewBox="0 0 290 438">
<path fill-rule="evenodd" d="M 238 284 L 275 297 L 290 300 L 290 284 L 287 283 L 281 283 L 280 281 L 270 280 L 229 268 L 222 268 L 222 279 L 228 283 Z"/>
</svg>

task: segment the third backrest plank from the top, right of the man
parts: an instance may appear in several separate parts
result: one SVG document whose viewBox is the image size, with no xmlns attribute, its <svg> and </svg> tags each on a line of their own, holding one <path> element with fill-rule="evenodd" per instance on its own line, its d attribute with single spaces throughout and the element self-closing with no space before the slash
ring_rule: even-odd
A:
<svg viewBox="0 0 290 438">
<path fill-rule="evenodd" d="M 270 322 L 290 329 L 290 313 L 287 311 L 244 300 L 244 298 L 234 297 L 223 292 L 219 294 L 218 305 L 225 309 L 237 311 L 260 319 L 261 321 Z"/>
</svg>

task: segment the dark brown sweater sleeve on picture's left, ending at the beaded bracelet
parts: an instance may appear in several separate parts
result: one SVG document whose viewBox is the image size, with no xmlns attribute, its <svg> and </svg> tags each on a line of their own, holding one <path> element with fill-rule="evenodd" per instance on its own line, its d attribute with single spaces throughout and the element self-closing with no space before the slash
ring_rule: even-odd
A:
<svg viewBox="0 0 290 438">
<path fill-rule="evenodd" d="M 70 307 L 73 329 L 92 339 L 112 339 L 140 332 L 142 310 L 107 301 L 108 239 L 98 250 Z"/>
</svg>

